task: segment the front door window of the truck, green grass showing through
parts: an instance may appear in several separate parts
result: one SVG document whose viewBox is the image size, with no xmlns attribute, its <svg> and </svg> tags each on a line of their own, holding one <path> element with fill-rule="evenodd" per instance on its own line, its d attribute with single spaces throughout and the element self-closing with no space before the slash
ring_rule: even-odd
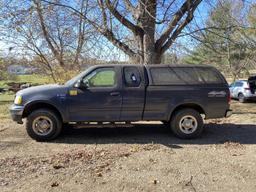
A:
<svg viewBox="0 0 256 192">
<path fill-rule="evenodd" d="M 115 87 L 116 72 L 113 67 L 98 68 L 83 78 L 88 87 Z"/>
</svg>

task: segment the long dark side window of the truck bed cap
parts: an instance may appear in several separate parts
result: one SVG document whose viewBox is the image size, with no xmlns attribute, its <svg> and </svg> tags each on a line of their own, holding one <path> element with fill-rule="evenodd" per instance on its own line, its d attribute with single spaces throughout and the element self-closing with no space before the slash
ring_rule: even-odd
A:
<svg viewBox="0 0 256 192">
<path fill-rule="evenodd" d="M 193 67 L 159 67 L 150 70 L 155 85 L 201 84 L 203 80 Z"/>
</svg>

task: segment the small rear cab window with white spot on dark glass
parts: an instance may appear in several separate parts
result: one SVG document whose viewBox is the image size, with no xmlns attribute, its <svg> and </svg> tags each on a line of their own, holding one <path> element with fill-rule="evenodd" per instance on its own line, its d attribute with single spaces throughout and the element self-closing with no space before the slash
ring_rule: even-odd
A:
<svg viewBox="0 0 256 192">
<path fill-rule="evenodd" d="M 127 87 L 139 87 L 141 83 L 140 72 L 137 67 L 124 68 L 124 81 Z"/>
</svg>

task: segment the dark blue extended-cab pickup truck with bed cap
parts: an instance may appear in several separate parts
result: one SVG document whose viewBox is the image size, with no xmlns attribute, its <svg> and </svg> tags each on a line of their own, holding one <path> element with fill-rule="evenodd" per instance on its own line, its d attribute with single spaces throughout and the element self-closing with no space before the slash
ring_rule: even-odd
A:
<svg viewBox="0 0 256 192">
<path fill-rule="evenodd" d="M 162 121 L 180 138 L 195 138 L 203 120 L 231 115 L 229 86 L 205 65 L 96 65 L 63 85 L 17 92 L 12 119 L 27 118 L 28 135 L 56 138 L 64 125 L 121 126 Z"/>
</svg>

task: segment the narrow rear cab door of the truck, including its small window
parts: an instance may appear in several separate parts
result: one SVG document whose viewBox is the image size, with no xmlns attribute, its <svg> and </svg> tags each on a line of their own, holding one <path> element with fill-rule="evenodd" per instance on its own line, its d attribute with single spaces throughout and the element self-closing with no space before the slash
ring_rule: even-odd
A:
<svg viewBox="0 0 256 192">
<path fill-rule="evenodd" d="M 143 66 L 123 67 L 123 105 L 120 120 L 141 120 L 145 102 L 145 85 Z"/>
</svg>

